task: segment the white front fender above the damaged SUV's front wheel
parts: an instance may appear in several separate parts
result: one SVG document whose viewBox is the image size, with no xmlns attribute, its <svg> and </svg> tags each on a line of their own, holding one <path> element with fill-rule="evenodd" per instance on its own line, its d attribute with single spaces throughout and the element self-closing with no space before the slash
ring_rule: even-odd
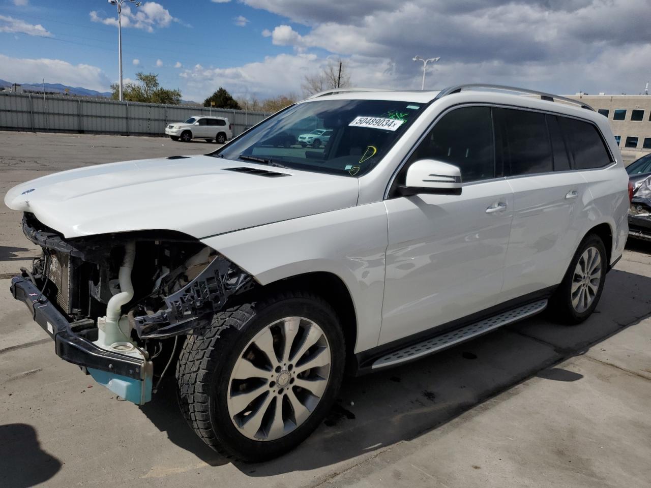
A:
<svg viewBox="0 0 651 488">
<path fill-rule="evenodd" d="M 206 237 L 202 242 L 262 285 L 305 273 L 333 273 L 348 288 L 355 308 L 355 353 L 378 345 L 388 243 L 383 202 Z"/>
</svg>

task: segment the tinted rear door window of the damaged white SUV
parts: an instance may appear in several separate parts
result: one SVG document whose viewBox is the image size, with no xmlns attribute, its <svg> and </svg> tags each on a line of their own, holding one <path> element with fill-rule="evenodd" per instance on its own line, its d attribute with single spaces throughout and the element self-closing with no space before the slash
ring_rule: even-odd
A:
<svg viewBox="0 0 651 488">
<path fill-rule="evenodd" d="M 545 115 L 524 110 L 495 109 L 505 142 L 504 163 L 509 174 L 553 171 Z"/>
</svg>

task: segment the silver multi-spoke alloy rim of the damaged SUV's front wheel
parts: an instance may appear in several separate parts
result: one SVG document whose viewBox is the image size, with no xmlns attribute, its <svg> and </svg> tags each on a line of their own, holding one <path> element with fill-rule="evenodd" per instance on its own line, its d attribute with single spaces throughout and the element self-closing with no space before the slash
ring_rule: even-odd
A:
<svg viewBox="0 0 651 488">
<path fill-rule="evenodd" d="M 326 334 L 310 319 L 286 317 L 264 327 L 230 375 L 227 407 L 238 431 L 273 441 L 301 426 L 326 391 L 331 359 Z"/>
</svg>

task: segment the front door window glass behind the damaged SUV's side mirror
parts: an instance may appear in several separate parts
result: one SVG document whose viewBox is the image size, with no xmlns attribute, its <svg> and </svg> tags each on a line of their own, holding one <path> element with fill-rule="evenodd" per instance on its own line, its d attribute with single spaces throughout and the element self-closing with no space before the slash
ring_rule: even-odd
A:
<svg viewBox="0 0 651 488">
<path fill-rule="evenodd" d="M 463 107 L 444 115 L 415 150 L 409 163 L 419 159 L 437 159 L 458 166 L 462 182 L 495 178 L 490 108 Z"/>
</svg>

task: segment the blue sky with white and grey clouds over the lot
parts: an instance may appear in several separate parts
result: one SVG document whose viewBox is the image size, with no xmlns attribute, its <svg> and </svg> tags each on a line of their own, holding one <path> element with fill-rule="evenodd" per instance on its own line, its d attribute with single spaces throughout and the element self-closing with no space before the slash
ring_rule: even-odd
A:
<svg viewBox="0 0 651 488">
<path fill-rule="evenodd" d="M 499 83 L 638 94 L 651 81 L 651 0 L 160 0 L 122 7 L 124 80 L 159 75 L 184 100 L 302 94 L 342 59 L 357 87 Z M 0 79 L 107 91 L 118 79 L 106 0 L 1 0 Z"/>
</svg>

